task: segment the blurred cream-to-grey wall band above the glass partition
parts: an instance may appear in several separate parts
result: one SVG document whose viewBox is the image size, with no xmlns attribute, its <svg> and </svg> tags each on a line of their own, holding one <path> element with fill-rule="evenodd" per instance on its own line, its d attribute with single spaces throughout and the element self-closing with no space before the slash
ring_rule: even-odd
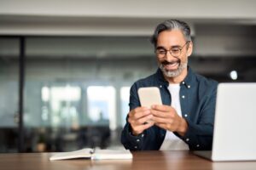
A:
<svg viewBox="0 0 256 170">
<path fill-rule="evenodd" d="M 148 36 L 162 20 L 256 24 L 256 1 L 0 0 L 0 35 Z M 193 29 L 192 29 L 193 30 Z"/>
</svg>

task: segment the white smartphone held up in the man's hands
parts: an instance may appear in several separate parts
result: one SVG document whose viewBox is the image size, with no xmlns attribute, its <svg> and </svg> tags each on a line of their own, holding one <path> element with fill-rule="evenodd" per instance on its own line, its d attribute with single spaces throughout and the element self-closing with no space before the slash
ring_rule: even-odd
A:
<svg viewBox="0 0 256 170">
<path fill-rule="evenodd" d="M 141 105 L 151 108 L 151 105 L 162 105 L 160 89 L 156 87 L 139 88 L 137 90 Z"/>
</svg>

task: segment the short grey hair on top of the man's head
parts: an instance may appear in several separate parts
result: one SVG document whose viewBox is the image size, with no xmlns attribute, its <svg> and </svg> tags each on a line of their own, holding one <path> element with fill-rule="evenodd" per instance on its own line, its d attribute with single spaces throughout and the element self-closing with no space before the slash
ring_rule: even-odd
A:
<svg viewBox="0 0 256 170">
<path fill-rule="evenodd" d="M 180 30 L 183 32 L 183 36 L 185 37 L 186 41 L 191 42 L 191 35 L 190 35 L 190 28 L 189 25 L 181 20 L 166 20 L 156 26 L 154 30 L 154 34 L 151 37 L 151 43 L 154 44 L 154 48 L 156 48 L 157 38 L 161 31 L 166 30 Z"/>
</svg>

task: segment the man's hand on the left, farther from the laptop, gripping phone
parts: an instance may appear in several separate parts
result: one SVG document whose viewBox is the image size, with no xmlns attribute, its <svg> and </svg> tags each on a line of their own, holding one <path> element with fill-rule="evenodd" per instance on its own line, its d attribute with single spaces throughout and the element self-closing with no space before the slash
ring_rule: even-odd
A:
<svg viewBox="0 0 256 170">
<path fill-rule="evenodd" d="M 131 124 L 131 130 L 133 135 L 138 135 L 143 133 L 143 131 L 154 125 L 154 122 L 150 122 L 153 117 L 151 115 L 150 109 L 146 107 L 137 107 L 131 110 L 128 114 L 128 122 Z"/>
</svg>

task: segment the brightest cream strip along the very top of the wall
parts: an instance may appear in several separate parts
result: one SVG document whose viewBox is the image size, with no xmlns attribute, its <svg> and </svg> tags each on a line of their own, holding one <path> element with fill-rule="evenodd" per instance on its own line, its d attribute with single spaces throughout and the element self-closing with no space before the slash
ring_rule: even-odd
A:
<svg viewBox="0 0 256 170">
<path fill-rule="evenodd" d="M 1 0 L 0 14 L 255 20 L 255 6 L 253 0 Z"/>
</svg>

